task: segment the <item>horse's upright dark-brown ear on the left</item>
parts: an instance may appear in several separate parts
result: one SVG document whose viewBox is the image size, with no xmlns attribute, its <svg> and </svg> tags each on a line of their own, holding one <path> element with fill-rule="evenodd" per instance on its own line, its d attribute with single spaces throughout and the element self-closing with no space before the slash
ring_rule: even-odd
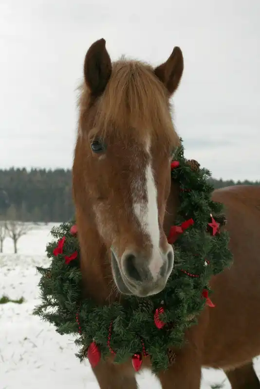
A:
<svg viewBox="0 0 260 389">
<path fill-rule="evenodd" d="M 105 39 L 99 39 L 89 48 L 84 62 L 84 77 L 91 94 L 98 97 L 104 92 L 112 71 L 111 59 Z"/>
</svg>

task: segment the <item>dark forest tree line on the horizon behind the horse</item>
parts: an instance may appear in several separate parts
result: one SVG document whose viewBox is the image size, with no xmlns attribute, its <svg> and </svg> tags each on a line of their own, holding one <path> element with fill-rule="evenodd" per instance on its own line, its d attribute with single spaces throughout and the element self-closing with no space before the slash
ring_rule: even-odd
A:
<svg viewBox="0 0 260 389">
<path fill-rule="evenodd" d="M 259 185 L 260 181 L 210 178 L 215 188 Z M 63 222 L 74 217 L 72 171 L 64 169 L 0 170 L 0 217 L 24 222 Z M 8 204 L 6 203 L 8 197 Z"/>
</svg>

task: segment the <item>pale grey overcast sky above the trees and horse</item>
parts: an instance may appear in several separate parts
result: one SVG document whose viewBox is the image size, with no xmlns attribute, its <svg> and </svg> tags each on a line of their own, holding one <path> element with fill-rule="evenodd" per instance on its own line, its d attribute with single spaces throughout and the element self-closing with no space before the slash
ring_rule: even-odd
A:
<svg viewBox="0 0 260 389">
<path fill-rule="evenodd" d="M 0 0 L 0 168 L 71 168 L 76 87 L 101 37 L 122 54 L 185 60 L 173 98 L 186 156 L 260 179 L 259 0 Z"/>
</svg>

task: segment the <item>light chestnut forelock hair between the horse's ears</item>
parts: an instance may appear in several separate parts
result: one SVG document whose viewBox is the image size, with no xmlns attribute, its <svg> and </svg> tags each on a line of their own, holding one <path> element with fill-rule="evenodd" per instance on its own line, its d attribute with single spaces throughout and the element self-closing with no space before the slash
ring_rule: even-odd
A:
<svg viewBox="0 0 260 389">
<path fill-rule="evenodd" d="M 79 127 L 84 128 L 91 93 L 85 82 L 80 91 Z M 122 135 L 129 127 L 138 129 L 139 134 L 143 131 L 144 136 L 148 130 L 158 133 L 163 129 L 174 143 L 179 142 L 173 129 L 167 90 L 146 63 L 125 58 L 113 62 L 108 85 L 93 105 L 96 109 L 92 127 L 104 135 L 111 129 L 117 129 Z"/>
</svg>

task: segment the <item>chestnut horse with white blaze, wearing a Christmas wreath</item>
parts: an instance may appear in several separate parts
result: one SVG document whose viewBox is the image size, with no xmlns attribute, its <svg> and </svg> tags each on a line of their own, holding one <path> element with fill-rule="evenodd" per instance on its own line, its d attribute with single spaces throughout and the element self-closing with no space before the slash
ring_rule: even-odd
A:
<svg viewBox="0 0 260 389">
<path fill-rule="evenodd" d="M 97 304 L 162 291 L 174 266 L 167 242 L 178 207 L 170 179 L 180 144 L 170 98 L 184 70 L 179 47 L 156 68 L 111 62 L 104 39 L 88 49 L 80 86 L 73 197 L 84 293 Z M 220 156 L 221 158 L 221 156 Z M 233 389 L 259 389 L 260 186 L 215 190 L 224 204 L 234 263 L 213 276 L 212 301 L 185 334 L 175 363 L 157 377 L 163 389 L 199 389 L 202 368 L 222 369 Z M 149 358 L 143 368 L 150 368 Z M 93 367 L 101 389 L 136 389 L 131 362 Z"/>
</svg>

